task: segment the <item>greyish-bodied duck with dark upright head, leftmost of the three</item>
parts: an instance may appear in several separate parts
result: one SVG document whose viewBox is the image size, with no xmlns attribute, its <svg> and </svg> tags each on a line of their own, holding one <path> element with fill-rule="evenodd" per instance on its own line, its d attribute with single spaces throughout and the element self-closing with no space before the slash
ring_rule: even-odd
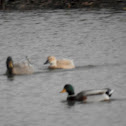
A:
<svg viewBox="0 0 126 126">
<path fill-rule="evenodd" d="M 32 74 L 34 72 L 33 66 L 28 61 L 14 64 L 11 56 L 7 57 L 6 67 L 7 75 L 23 75 Z"/>
</svg>

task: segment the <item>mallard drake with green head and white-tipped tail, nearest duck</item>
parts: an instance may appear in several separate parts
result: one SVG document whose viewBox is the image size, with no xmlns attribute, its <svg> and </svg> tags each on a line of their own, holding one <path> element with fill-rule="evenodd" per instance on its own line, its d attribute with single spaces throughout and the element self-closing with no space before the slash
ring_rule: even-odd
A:
<svg viewBox="0 0 126 126">
<path fill-rule="evenodd" d="M 99 90 L 85 90 L 75 95 L 74 88 L 71 84 L 66 84 L 60 93 L 67 92 L 68 101 L 83 101 L 83 102 L 95 102 L 95 101 L 109 101 L 114 90 L 110 88 L 104 88 Z"/>
</svg>

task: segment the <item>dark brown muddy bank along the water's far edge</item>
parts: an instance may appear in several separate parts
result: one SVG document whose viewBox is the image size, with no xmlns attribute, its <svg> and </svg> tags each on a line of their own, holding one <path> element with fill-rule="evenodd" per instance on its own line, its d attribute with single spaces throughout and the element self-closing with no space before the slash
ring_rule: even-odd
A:
<svg viewBox="0 0 126 126">
<path fill-rule="evenodd" d="M 67 9 L 113 7 L 126 10 L 126 0 L 0 0 L 0 9 Z"/>
</svg>

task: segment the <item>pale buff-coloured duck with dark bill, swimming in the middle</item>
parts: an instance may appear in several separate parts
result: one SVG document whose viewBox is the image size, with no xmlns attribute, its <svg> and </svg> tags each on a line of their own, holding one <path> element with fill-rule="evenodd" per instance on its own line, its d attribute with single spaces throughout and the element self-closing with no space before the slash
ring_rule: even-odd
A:
<svg viewBox="0 0 126 126">
<path fill-rule="evenodd" d="M 75 65 L 72 60 L 61 59 L 57 60 L 55 56 L 48 56 L 44 64 L 50 64 L 49 69 L 73 69 Z"/>
</svg>

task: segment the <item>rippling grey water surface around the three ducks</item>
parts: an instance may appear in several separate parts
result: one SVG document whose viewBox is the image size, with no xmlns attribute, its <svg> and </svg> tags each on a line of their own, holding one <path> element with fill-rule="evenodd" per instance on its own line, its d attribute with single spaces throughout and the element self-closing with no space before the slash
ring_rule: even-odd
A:
<svg viewBox="0 0 126 126">
<path fill-rule="evenodd" d="M 28 56 L 35 74 L 8 78 L 7 56 Z M 49 71 L 47 56 L 73 59 L 74 70 Z M 38 10 L 0 12 L 1 126 L 126 125 L 126 11 Z M 76 103 L 60 94 L 109 87 L 110 102 Z"/>
</svg>

